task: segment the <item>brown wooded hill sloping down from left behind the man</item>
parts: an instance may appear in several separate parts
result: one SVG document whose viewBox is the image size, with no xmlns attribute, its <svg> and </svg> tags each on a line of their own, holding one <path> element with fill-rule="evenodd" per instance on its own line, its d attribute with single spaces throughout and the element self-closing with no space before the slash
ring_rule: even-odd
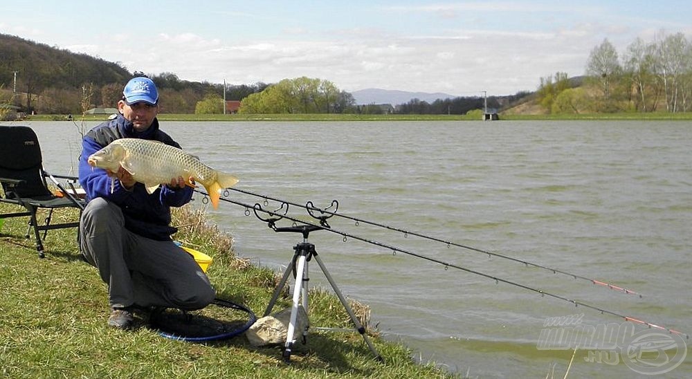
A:
<svg viewBox="0 0 692 379">
<path fill-rule="evenodd" d="M 117 62 L 0 33 L 0 104 L 12 101 L 24 113 L 80 113 L 87 91 L 87 108 L 113 107 L 122 85 L 139 74 Z M 174 73 L 147 74 L 159 90 L 170 90 L 161 102 L 166 113 L 194 113 L 206 94 L 223 93 L 221 84 L 179 80 Z M 18 95 L 13 94 L 15 84 Z M 233 99 L 235 93 L 229 96 Z"/>
</svg>

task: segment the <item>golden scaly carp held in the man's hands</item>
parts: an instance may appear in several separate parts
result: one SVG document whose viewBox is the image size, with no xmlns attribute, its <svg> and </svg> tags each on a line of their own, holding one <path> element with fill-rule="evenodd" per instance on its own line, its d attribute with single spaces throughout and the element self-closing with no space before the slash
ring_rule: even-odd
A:
<svg viewBox="0 0 692 379">
<path fill-rule="evenodd" d="M 122 166 L 135 181 L 144 183 L 152 194 L 159 185 L 170 183 L 172 178 L 190 177 L 201 183 L 216 209 L 219 192 L 238 183 L 235 176 L 220 172 L 201 163 L 199 158 L 177 147 L 154 140 L 120 138 L 107 147 L 91 154 L 87 159 L 92 167 L 118 172 Z M 194 187 L 192 183 L 188 183 Z"/>
</svg>

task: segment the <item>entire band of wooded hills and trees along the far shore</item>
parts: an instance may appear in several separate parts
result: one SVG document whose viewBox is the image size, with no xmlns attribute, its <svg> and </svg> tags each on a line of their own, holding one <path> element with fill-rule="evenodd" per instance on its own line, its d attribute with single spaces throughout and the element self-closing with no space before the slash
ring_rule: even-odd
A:
<svg viewBox="0 0 692 379">
<path fill-rule="evenodd" d="M 75 54 L 0 34 L 0 104 L 26 113 L 79 114 L 115 107 L 133 75 L 119 63 Z M 535 93 L 438 99 L 403 104 L 356 104 L 351 93 L 318 78 L 297 77 L 273 84 L 212 84 L 181 80 L 174 73 L 147 75 L 160 91 L 162 113 L 223 113 L 226 100 L 241 100 L 242 113 L 465 114 L 502 109 L 536 98 L 549 113 L 692 110 L 692 43 L 684 34 L 659 32 L 635 39 L 618 53 L 606 38 L 590 52 L 585 75 L 541 77 Z"/>
</svg>

